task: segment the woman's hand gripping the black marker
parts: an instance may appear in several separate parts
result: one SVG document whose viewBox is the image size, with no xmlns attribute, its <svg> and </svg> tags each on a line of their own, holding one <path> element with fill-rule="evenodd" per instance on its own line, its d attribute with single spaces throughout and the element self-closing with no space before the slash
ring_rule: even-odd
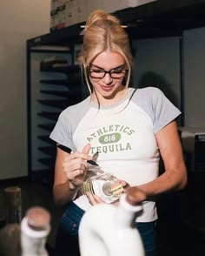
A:
<svg viewBox="0 0 205 256">
<path fill-rule="evenodd" d="M 89 156 L 90 145 L 87 144 L 83 148 L 83 152 L 73 152 L 69 154 L 63 161 L 63 171 L 69 179 L 70 189 L 83 185 L 86 172 L 89 169 L 87 160 L 91 160 Z"/>
</svg>

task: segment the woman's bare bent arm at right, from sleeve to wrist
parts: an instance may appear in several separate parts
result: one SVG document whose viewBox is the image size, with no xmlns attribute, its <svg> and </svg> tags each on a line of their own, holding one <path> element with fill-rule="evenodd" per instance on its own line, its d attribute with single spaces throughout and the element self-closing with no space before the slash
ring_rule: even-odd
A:
<svg viewBox="0 0 205 256">
<path fill-rule="evenodd" d="M 146 199 L 165 192 L 180 190 L 187 184 L 187 171 L 175 121 L 158 131 L 155 138 L 162 156 L 165 172 L 157 179 L 137 186 L 142 192 L 145 192 Z M 131 188 L 132 191 L 133 189 Z"/>
</svg>

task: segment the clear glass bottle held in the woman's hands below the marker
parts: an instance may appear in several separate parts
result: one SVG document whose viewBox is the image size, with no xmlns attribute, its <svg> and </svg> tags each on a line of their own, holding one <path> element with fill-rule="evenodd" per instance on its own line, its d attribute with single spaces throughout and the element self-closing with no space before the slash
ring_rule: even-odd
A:
<svg viewBox="0 0 205 256">
<path fill-rule="evenodd" d="M 105 203 L 113 203 L 120 199 L 123 187 L 115 176 L 103 173 L 83 182 L 83 193 L 86 192 L 97 195 Z"/>
</svg>

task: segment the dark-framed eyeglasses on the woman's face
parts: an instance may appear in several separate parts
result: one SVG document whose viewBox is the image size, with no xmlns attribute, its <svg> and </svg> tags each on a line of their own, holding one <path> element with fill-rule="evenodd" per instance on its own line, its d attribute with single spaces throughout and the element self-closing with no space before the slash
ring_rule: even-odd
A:
<svg viewBox="0 0 205 256">
<path fill-rule="evenodd" d="M 98 67 L 87 67 L 86 71 L 88 76 L 91 78 L 102 79 L 103 77 L 105 77 L 106 74 L 109 74 L 110 77 L 119 79 L 125 77 L 128 70 L 118 67 L 110 71 L 105 71 Z"/>
</svg>

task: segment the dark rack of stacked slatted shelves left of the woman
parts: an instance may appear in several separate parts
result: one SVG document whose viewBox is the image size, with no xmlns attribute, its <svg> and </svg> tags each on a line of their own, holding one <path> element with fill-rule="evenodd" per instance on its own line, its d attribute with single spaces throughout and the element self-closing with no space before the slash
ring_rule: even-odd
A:
<svg viewBox="0 0 205 256">
<path fill-rule="evenodd" d="M 50 132 L 63 109 L 85 95 L 74 45 L 28 48 L 29 176 L 52 186 L 56 143 Z"/>
</svg>

